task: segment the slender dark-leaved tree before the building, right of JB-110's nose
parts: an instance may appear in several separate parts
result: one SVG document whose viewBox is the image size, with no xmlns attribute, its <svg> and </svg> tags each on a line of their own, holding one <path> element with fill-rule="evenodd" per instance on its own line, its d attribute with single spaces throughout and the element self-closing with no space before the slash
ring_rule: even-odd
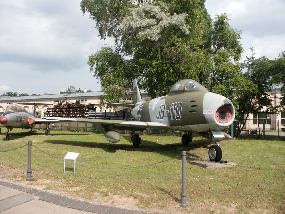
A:
<svg viewBox="0 0 285 214">
<path fill-rule="evenodd" d="M 247 57 L 247 60 L 241 64 L 241 68 L 245 70 L 243 79 L 248 81 L 249 87 L 247 90 L 241 90 L 240 96 L 235 99 L 238 103 L 236 108 L 238 117 L 236 136 L 241 133 L 249 114 L 257 114 L 258 119 L 260 113 L 269 115 L 276 112 L 276 109 L 271 107 L 271 98 L 268 93 L 273 85 L 274 61 L 264 56 L 256 59 L 253 48 L 251 51 L 252 56 Z"/>
</svg>

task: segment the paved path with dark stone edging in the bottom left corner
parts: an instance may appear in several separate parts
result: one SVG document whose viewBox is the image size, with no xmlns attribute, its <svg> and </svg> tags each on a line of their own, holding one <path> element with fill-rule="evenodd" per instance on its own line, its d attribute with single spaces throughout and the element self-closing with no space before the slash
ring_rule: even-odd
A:
<svg viewBox="0 0 285 214">
<path fill-rule="evenodd" d="M 92 204 L 61 195 L 24 187 L 0 179 L 0 213 L 1 214 L 158 214 L 139 209 L 112 207 Z M 160 212 L 161 213 L 161 212 Z"/>
</svg>

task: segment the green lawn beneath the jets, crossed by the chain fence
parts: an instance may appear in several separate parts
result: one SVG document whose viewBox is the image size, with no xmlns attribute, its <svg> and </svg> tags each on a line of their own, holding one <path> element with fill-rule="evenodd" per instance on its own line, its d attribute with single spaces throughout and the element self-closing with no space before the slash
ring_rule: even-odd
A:
<svg viewBox="0 0 285 214">
<path fill-rule="evenodd" d="M 147 165 L 179 156 L 186 150 L 189 156 L 208 159 L 211 141 L 194 138 L 189 147 L 181 146 L 174 136 L 141 136 L 140 148 L 133 148 L 129 135 L 122 135 L 116 144 L 103 134 L 88 132 L 29 131 L 13 129 L 11 140 L 0 136 L 0 151 L 27 144 L 63 160 L 67 152 L 79 152 L 77 164 L 90 167 L 120 168 Z M 285 168 L 285 142 L 270 140 L 228 140 L 219 142 L 223 160 L 237 165 L 260 168 Z M 24 181 L 28 147 L 0 152 L 0 165 L 19 169 L 17 173 L 1 173 L 0 177 Z M 76 175 L 63 175 L 63 161 L 32 147 L 32 181 L 45 189 L 62 191 L 73 196 L 93 199 L 110 195 L 131 197 L 137 207 L 182 213 L 284 213 L 285 171 L 259 170 L 243 167 L 204 169 L 187 164 L 188 207 L 179 207 L 181 192 L 181 158 L 128 169 L 94 169 L 76 166 Z M 187 161 L 191 160 L 187 158 Z M 73 162 L 73 161 L 71 161 Z M 67 163 L 68 170 L 73 165 Z M 1 170 L 1 168 L 0 168 Z M 99 196 L 94 197 L 97 193 Z M 112 202 L 113 203 L 113 202 Z M 178 205 L 178 206 L 177 206 Z M 174 208 L 173 208 L 174 207 Z"/>
</svg>

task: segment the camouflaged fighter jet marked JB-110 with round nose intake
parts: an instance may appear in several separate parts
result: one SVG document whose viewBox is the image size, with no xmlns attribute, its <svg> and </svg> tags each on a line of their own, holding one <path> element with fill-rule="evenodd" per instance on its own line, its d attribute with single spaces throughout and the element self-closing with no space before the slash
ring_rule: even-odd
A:
<svg viewBox="0 0 285 214">
<path fill-rule="evenodd" d="M 132 107 L 135 121 L 102 120 L 83 118 L 54 118 L 69 122 L 85 122 L 101 124 L 104 136 L 109 142 L 119 142 L 120 135 L 115 130 L 130 130 L 131 142 L 134 147 L 141 143 L 139 134 L 146 128 L 182 131 L 182 144 L 188 146 L 192 141 L 192 132 L 213 141 L 231 138 L 221 129 L 232 124 L 235 109 L 232 102 L 224 96 L 210 93 L 204 86 L 191 79 L 184 79 L 175 83 L 166 96 L 144 101 L 141 99 L 136 77 L 133 76 L 134 104 L 108 103 L 117 106 Z M 217 142 L 209 148 L 209 158 L 220 161 L 222 150 Z"/>
</svg>

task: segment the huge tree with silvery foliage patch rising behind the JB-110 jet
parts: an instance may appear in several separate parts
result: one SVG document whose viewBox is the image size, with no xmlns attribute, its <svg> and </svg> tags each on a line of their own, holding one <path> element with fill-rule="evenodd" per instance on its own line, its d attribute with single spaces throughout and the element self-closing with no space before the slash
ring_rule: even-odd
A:
<svg viewBox="0 0 285 214">
<path fill-rule="evenodd" d="M 98 9 L 94 5 L 96 2 L 82 1 L 82 11 L 88 11 L 91 18 L 96 20 L 101 38 L 106 35 L 115 38 L 113 54 L 122 59 L 119 61 L 121 67 L 128 66 L 128 70 L 113 69 L 111 62 L 114 61 L 108 61 L 110 48 L 103 48 L 89 57 L 90 71 L 94 69 L 94 76 L 101 80 L 104 92 L 115 91 L 112 86 L 104 85 L 102 80 L 106 75 L 100 76 L 98 74 L 102 73 L 95 70 L 95 66 L 101 64 L 95 61 L 98 59 L 108 61 L 110 67 L 106 73 L 110 79 L 126 72 L 123 76 L 129 78 L 125 90 L 131 88 L 131 74 L 135 73 L 141 80 L 141 86 L 148 90 L 152 98 L 167 94 L 170 87 L 183 78 L 192 78 L 201 83 L 207 81 L 208 70 L 212 66 L 209 33 L 211 18 L 204 1 L 156 1 L 141 4 L 129 1 L 122 2 L 122 5 L 127 6 L 118 6 L 117 10 L 107 1 L 102 1 L 105 9 Z M 110 11 L 113 11 L 112 16 Z M 96 57 L 98 54 L 107 58 Z M 118 67 L 118 64 L 114 66 Z"/>
</svg>

